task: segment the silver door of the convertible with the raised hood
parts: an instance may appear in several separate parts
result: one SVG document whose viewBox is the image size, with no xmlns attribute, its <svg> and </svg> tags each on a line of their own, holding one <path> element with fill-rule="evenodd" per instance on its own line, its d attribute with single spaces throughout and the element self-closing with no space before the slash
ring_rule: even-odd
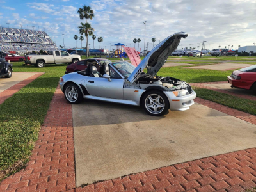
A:
<svg viewBox="0 0 256 192">
<path fill-rule="evenodd" d="M 111 81 L 103 77 L 87 77 L 86 87 L 90 95 L 106 97 L 111 99 L 124 98 L 124 79 L 114 79 Z"/>
</svg>

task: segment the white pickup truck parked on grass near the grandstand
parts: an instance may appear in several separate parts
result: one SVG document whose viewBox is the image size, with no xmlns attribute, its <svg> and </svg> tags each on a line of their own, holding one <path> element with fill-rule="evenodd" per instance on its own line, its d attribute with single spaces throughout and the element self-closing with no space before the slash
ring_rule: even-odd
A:
<svg viewBox="0 0 256 192">
<path fill-rule="evenodd" d="M 45 64 L 76 63 L 77 61 L 81 61 L 81 56 L 69 54 L 66 51 L 52 51 L 52 54 L 49 55 L 31 54 L 25 58 L 25 64 L 31 64 L 37 67 L 44 67 Z"/>
</svg>

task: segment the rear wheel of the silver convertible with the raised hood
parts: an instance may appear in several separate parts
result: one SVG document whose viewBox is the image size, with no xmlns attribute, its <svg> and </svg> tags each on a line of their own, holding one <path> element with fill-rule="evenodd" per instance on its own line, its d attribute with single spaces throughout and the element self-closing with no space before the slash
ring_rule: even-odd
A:
<svg viewBox="0 0 256 192">
<path fill-rule="evenodd" d="M 68 83 L 64 89 L 64 95 L 70 104 L 78 104 L 83 100 L 83 94 L 80 88 L 74 83 Z"/>
</svg>

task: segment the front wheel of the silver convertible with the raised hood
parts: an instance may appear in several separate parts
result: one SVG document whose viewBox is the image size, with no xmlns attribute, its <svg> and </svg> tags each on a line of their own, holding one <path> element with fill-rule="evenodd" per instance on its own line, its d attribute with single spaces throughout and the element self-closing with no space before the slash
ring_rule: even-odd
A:
<svg viewBox="0 0 256 192">
<path fill-rule="evenodd" d="M 152 90 L 143 97 L 143 108 L 152 116 L 165 115 L 169 109 L 169 101 L 163 92 Z"/>
</svg>

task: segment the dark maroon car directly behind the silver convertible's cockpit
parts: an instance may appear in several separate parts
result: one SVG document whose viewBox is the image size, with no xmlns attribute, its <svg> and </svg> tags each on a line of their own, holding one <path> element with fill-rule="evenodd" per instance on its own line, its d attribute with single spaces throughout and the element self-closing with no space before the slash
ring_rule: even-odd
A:
<svg viewBox="0 0 256 192">
<path fill-rule="evenodd" d="M 86 70 L 87 66 L 92 63 L 92 65 L 94 65 L 97 70 L 100 70 L 100 67 L 102 67 L 103 63 L 106 63 L 107 65 L 109 63 L 111 63 L 111 61 L 107 60 L 107 59 L 87 59 L 87 60 L 81 60 L 78 61 L 76 63 L 72 63 L 70 65 L 68 65 L 66 67 L 66 72 L 65 74 L 69 74 L 72 72 L 77 72 L 77 71 L 81 71 L 81 70 Z"/>
</svg>

